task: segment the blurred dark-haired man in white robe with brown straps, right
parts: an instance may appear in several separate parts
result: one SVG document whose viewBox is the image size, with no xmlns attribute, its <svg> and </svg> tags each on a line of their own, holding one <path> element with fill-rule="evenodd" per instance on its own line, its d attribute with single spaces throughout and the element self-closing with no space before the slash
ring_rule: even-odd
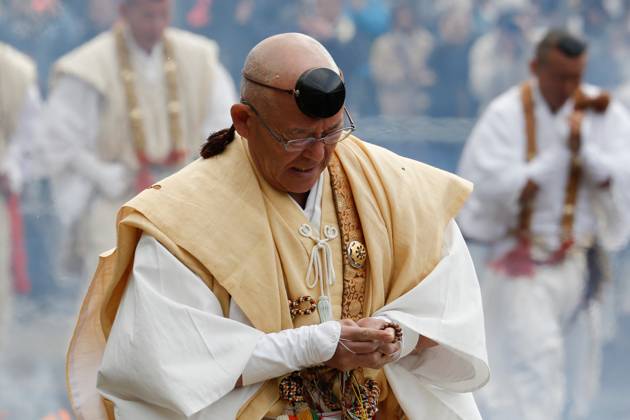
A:
<svg viewBox="0 0 630 420">
<path fill-rule="evenodd" d="M 598 390 L 603 253 L 630 236 L 630 115 L 582 83 L 586 62 L 583 41 L 549 31 L 533 78 L 489 105 L 461 157 L 476 185 L 462 231 L 491 247 L 481 285 L 493 375 L 478 395 L 487 420 L 558 420 L 568 394 L 569 418 L 582 418 Z"/>
</svg>

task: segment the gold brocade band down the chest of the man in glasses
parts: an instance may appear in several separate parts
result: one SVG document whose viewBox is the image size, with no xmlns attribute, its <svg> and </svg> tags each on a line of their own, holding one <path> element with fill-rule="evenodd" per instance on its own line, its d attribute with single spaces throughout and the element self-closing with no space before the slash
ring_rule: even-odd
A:
<svg viewBox="0 0 630 420">
<path fill-rule="evenodd" d="M 348 178 L 339 163 L 339 159 L 333 154 L 328 164 L 330 184 L 333 190 L 341 241 L 343 246 L 343 294 L 341 299 L 341 319 L 353 319 L 358 321 L 364 317 L 364 302 L 366 294 L 367 265 L 369 258 L 366 255 L 361 268 L 354 268 L 347 254 L 348 246 L 353 241 L 365 243 L 363 229 L 357 209 L 354 205 L 354 197 Z"/>
</svg>

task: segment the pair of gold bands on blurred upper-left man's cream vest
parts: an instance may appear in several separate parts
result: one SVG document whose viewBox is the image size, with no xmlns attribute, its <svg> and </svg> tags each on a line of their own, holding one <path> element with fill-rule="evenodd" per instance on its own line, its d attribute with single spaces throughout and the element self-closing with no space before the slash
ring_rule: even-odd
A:
<svg viewBox="0 0 630 420">
<path fill-rule="evenodd" d="M 140 163 L 151 163 L 148 161 L 145 153 L 146 134 L 142 122 L 142 110 L 138 101 L 135 89 L 136 73 L 131 65 L 129 48 L 124 36 L 124 29 L 121 24 L 114 28 L 114 36 L 116 39 L 116 54 L 120 65 L 120 77 L 125 90 L 127 99 L 127 108 L 129 110 L 129 124 L 131 127 L 131 136 L 134 148 L 136 150 Z M 168 112 L 169 135 L 172 142 L 170 155 L 165 162 L 160 164 L 174 165 L 184 160 L 186 149 L 184 147 L 181 132 L 181 103 L 179 101 L 177 91 L 177 63 L 175 62 L 174 47 L 171 40 L 162 36 L 164 45 L 164 77 L 166 83 L 166 107 Z"/>
</svg>

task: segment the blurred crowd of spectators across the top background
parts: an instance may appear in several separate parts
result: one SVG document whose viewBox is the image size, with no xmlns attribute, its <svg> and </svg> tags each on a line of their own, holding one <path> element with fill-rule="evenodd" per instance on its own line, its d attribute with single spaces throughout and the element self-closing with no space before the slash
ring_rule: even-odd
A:
<svg viewBox="0 0 630 420">
<path fill-rule="evenodd" d="M 109 28 L 114 0 L 4 0 L 0 41 L 51 64 Z M 589 41 L 586 80 L 630 102 L 628 0 L 179 0 L 173 24 L 217 41 L 234 80 L 247 51 L 273 33 L 320 40 L 346 75 L 360 115 L 474 117 L 527 74 L 550 26 Z M 376 94 L 375 94 L 376 93 Z"/>
</svg>

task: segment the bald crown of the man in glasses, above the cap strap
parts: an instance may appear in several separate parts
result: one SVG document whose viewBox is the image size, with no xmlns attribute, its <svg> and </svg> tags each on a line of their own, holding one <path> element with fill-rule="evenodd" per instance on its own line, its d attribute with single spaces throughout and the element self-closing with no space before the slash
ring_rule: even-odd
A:
<svg viewBox="0 0 630 420">
<path fill-rule="evenodd" d="M 315 39 L 300 33 L 274 35 L 262 40 L 247 55 L 243 74 L 271 86 L 291 89 L 306 70 L 323 67 L 339 74 L 330 53 Z M 254 100 L 273 91 L 241 80 L 241 96 Z"/>
</svg>

